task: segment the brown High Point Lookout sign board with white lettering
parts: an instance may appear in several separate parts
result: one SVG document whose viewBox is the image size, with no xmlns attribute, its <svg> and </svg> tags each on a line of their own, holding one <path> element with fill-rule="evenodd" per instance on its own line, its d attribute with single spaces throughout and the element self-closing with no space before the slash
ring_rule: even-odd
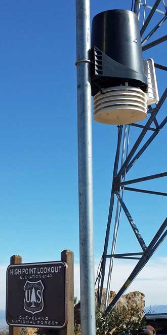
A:
<svg viewBox="0 0 167 335">
<path fill-rule="evenodd" d="M 65 262 L 10 265 L 7 269 L 7 323 L 23 327 L 65 327 L 67 291 Z"/>
</svg>

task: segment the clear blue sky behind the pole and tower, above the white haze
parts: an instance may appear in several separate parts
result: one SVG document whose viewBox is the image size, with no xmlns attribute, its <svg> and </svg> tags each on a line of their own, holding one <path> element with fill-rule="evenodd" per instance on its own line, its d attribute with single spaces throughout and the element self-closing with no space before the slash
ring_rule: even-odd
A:
<svg viewBox="0 0 167 335">
<path fill-rule="evenodd" d="M 116 8 L 130 9 L 131 1 L 91 1 L 91 19 L 101 11 Z M 160 18 L 161 15 L 156 14 L 147 31 Z M 164 24 L 153 39 L 165 34 L 165 30 Z M 0 50 L 2 276 L 13 254 L 20 254 L 24 263 L 30 263 L 59 260 L 63 249 L 71 249 L 77 267 L 79 238 L 74 1 L 1 2 Z M 146 51 L 144 58 L 149 57 L 165 65 L 165 42 Z M 160 95 L 165 89 L 164 76 L 163 71 L 157 70 Z M 159 122 L 165 117 L 165 106 L 159 113 Z M 132 129 L 130 147 L 139 133 L 138 128 Z M 116 126 L 93 122 L 96 265 L 103 251 L 116 139 Z M 166 163 L 164 127 L 129 172 L 127 179 L 164 172 Z M 166 192 L 166 177 L 137 186 Z M 127 191 L 124 201 L 148 244 L 166 216 L 166 198 Z M 117 251 L 140 251 L 123 214 Z M 166 256 L 165 241 L 152 261 L 154 267 L 159 264 L 159 259 L 164 264 Z M 165 279 L 167 273 L 164 274 Z M 3 283 L 4 279 L 4 292 Z M 76 294 L 79 294 L 78 290 Z"/>
</svg>

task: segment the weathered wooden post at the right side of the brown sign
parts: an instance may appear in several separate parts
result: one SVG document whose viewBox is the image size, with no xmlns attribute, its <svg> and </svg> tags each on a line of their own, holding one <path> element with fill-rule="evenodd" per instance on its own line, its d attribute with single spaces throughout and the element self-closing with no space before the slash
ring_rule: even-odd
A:
<svg viewBox="0 0 167 335">
<path fill-rule="evenodd" d="M 74 260 L 71 250 L 63 250 L 61 252 L 61 260 L 68 265 L 68 280 L 67 284 L 67 327 L 60 330 L 60 335 L 73 335 L 74 333 Z M 14 334 L 15 335 L 15 334 Z"/>
</svg>

